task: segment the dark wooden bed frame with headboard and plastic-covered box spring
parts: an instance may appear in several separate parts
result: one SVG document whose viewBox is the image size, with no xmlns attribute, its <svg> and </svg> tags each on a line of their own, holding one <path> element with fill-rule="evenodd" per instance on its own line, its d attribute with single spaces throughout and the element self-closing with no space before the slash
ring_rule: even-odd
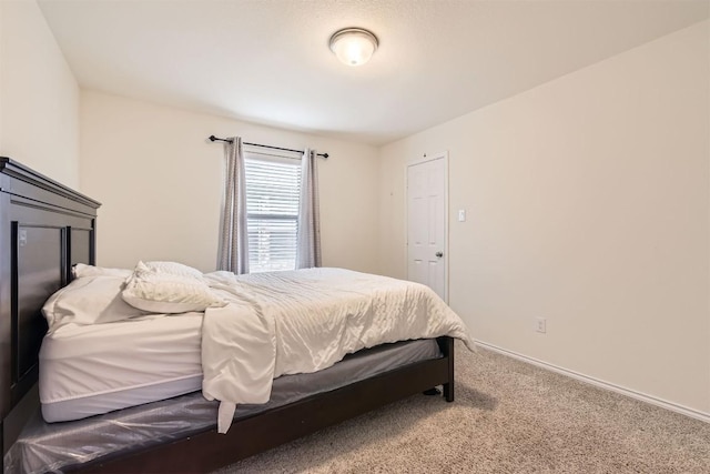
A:
<svg viewBox="0 0 710 474">
<path fill-rule="evenodd" d="M 274 382 L 274 400 L 266 405 L 240 406 L 226 434 L 215 430 L 215 402 L 200 393 L 81 421 L 45 423 L 39 415 L 37 390 L 39 352 L 47 332 L 40 310 L 50 295 L 70 282 L 74 265 L 95 263 L 99 206 L 88 196 L 0 158 L 4 472 L 28 471 L 21 462 L 36 453 L 32 445 L 49 446 L 48 453 L 34 456 L 39 458 L 50 456 L 51 451 L 72 453 L 82 446 L 90 452 L 71 454 L 73 461 L 64 461 L 59 467 L 51 460 L 44 467 L 32 467 L 38 472 L 207 472 L 436 386 L 443 387 L 447 402 L 454 401 L 454 342 L 440 336 L 428 345 L 414 341 L 361 351 L 316 374 L 284 375 Z M 413 349 L 416 344 L 422 346 Z M 377 361 L 383 360 L 383 353 L 405 352 L 418 355 L 402 355 L 394 366 L 362 370 L 381 365 Z M 352 366 L 361 369 L 358 376 L 352 375 Z M 321 379 L 308 379 L 313 376 Z M 303 386 L 300 377 L 306 377 L 308 385 L 321 384 L 320 389 L 312 393 L 293 390 L 294 384 Z M 131 428 L 116 434 L 110 426 Z M 93 444 L 99 433 L 108 436 L 106 444 L 119 446 L 97 455 Z M 136 433 L 143 433 L 139 442 L 120 445 L 126 438 L 135 441 Z"/>
</svg>

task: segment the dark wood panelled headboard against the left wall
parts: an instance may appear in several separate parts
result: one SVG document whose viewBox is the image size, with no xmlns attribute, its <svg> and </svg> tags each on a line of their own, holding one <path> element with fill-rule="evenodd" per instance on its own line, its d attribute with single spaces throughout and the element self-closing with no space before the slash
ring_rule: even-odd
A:
<svg viewBox="0 0 710 474">
<path fill-rule="evenodd" d="M 13 410 L 37 384 L 38 354 L 47 332 L 41 307 L 52 293 L 69 283 L 72 265 L 94 264 L 100 205 L 17 161 L 0 157 L 3 454 L 18 428 Z"/>
</svg>

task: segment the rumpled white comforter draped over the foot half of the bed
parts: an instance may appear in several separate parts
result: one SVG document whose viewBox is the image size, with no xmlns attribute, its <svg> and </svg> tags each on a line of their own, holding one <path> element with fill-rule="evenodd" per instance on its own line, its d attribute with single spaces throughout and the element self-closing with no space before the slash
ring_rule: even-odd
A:
<svg viewBox="0 0 710 474">
<path fill-rule="evenodd" d="M 207 309 L 202 391 L 219 400 L 219 432 L 239 403 L 266 403 L 272 381 L 316 372 L 378 344 L 449 335 L 464 322 L 429 288 L 342 269 L 206 275 L 230 304 Z"/>
</svg>

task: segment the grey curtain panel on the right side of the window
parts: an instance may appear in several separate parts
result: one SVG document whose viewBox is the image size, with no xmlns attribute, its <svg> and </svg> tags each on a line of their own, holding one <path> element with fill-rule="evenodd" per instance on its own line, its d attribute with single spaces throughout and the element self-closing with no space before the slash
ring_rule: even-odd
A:
<svg viewBox="0 0 710 474">
<path fill-rule="evenodd" d="M 318 160 L 306 149 L 301 160 L 301 200 L 296 269 L 321 266 L 321 215 L 318 212 Z"/>
</svg>

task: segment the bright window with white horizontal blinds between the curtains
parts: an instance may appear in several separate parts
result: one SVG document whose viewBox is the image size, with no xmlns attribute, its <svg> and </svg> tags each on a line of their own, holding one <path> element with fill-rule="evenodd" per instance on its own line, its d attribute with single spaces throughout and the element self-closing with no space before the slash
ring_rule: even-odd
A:
<svg viewBox="0 0 710 474">
<path fill-rule="evenodd" d="M 294 270 L 301 161 L 246 153 L 244 171 L 250 272 Z"/>
</svg>

